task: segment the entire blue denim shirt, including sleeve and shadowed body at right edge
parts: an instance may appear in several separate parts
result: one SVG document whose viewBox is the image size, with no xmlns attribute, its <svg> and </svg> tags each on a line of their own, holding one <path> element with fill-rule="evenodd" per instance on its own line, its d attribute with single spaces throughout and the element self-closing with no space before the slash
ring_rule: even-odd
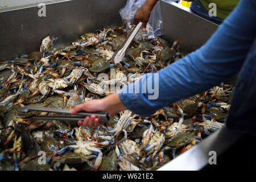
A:
<svg viewBox="0 0 256 182">
<path fill-rule="evenodd" d="M 255 134 L 256 122 L 252 114 L 256 106 L 255 19 L 256 1 L 240 1 L 200 49 L 157 73 L 147 73 L 141 80 L 125 86 L 119 92 L 122 104 L 134 113 L 147 117 L 182 98 L 213 88 L 240 72 L 226 125 Z M 154 82 L 154 78 L 159 82 Z M 158 88 L 158 93 L 146 89 L 148 84 Z"/>
</svg>

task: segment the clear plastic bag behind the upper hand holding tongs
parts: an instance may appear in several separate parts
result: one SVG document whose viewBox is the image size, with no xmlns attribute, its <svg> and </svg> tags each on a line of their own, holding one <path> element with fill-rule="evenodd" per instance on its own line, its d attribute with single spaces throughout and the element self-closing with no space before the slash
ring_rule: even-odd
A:
<svg viewBox="0 0 256 182">
<path fill-rule="evenodd" d="M 123 24 L 126 23 L 126 30 L 129 33 L 133 28 L 134 15 L 138 8 L 141 7 L 146 0 L 127 0 L 126 6 L 123 7 L 119 14 L 121 15 Z M 156 3 L 154 9 L 151 11 L 150 19 L 147 22 L 146 32 L 139 30 L 135 36 L 135 40 L 138 39 L 153 39 L 156 36 L 162 35 L 163 22 L 159 1 Z"/>
</svg>

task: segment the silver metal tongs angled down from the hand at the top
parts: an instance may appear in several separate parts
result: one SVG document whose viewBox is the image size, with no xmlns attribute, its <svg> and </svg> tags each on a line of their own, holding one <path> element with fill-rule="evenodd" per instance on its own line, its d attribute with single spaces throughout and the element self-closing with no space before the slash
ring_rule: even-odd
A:
<svg viewBox="0 0 256 182">
<path fill-rule="evenodd" d="M 115 51 L 114 55 L 112 56 L 112 60 L 114 60 L 114 63 L 120 63 L 120 61 L 125 57 L 125 51 L 129 47 L 131 41 L 133 41 L 133 38 L 138 33 L 139 29 L 142 27 L 142 22 L 139 22 L 137 26 L 133 28 L 133 30 L 130 32 L 130 34 L 125 39 L 125 42 L 123 42 L 122 46 L 120 46 L 117 51 Z"/>
</svg>

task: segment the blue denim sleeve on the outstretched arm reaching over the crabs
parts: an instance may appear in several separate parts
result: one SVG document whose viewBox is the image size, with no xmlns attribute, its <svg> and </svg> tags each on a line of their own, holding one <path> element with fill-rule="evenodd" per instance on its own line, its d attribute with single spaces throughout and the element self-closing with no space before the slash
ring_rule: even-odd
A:
<svg viewBox="0 0 256 182">
<path fill-rule="evenodd" d="M 240 71 L 256 35 L 255 18 L 256 1 L 240 1 L 204 46 L 158 73 L 148 73 L 140 81 L 125 86 L 119 99 L 127 109 L 147 117 L 181 98 L 220 84 Z M 153 93 L 158 95 L 156 99 L 148 98 L 152 92 L 142 92 L 147 82 L 154 80 L 151 78 L 159 79 L 152 84 L 154 92 L 158 91 Z M 138 87 L 141 92 L 135 92 Z"/>
</svg>

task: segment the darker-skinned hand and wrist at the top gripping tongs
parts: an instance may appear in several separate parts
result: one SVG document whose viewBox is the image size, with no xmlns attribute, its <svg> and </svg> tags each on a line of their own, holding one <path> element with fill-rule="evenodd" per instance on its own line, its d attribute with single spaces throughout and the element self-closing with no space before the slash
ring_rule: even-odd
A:
<svg viewBox="0 0 256 182">
<path fill-rule="evenodd" d="M 148 19 L 150 19 L 150 13 L 158 0 L 146 0 L 144 4 L 138 8 L 134 15 L 134 24 L 142 22 L 142 30 L 146 30 Z"/>
</svg>

